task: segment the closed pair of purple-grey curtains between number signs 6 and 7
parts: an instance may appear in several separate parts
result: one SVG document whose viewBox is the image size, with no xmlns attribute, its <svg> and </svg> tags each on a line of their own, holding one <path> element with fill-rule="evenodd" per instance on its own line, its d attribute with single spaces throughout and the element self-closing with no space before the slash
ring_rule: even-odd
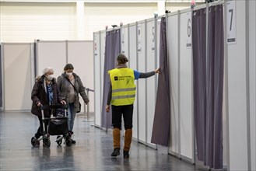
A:
<svg viewBox="0 0 256 171">
<path fill-rule="evenodd" d="M 206 44 L 205 9 L 193 15 L 194 112 L 198 159 L 223 168 L 223 5 L 209 8 Z"/>
</svg>

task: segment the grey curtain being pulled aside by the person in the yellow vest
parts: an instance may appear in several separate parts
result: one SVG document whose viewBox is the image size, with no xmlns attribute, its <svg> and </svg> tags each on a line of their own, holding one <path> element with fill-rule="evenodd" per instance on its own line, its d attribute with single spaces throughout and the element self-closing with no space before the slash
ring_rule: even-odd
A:
<svg viewBox="0 0 256 171">
<path fill-rule="evenodd" d="M 151 142 L 168 146 L 170 134 L 170 70 L 167 59 L 166 19 L 162 17 L 160 26 L 160 69 L 156 94 L 156 109 Z"/>
</svg>

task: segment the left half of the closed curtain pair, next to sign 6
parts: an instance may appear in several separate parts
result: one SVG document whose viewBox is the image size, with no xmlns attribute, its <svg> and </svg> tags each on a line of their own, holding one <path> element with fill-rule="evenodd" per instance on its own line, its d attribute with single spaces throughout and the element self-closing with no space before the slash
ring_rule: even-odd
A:
<svg viewBox="0 0 256 171">
<path fill-rule="evenodd" d="M 195 138 L 198 159 L 205 161 L 206 113 L 206 10 L 198 9 L 192 18 L 194 69 Z"/>
</svg>

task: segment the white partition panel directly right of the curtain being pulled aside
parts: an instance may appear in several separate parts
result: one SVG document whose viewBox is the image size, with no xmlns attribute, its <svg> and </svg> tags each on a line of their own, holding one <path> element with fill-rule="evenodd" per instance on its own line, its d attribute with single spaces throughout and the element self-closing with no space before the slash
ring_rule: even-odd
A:
<svg viewBox="0 0 256 171">
<path fill-rule="evenodd" d="M 178 115 L 179 115 L 179 30 L 178 30 L 178 15 L 169 16 L 167 22 L 167 47 L 169 55 L 170 65 L 170 153 L 178 153 L 179 151 L 179 127 L 178 127 Z"/>
</svg>

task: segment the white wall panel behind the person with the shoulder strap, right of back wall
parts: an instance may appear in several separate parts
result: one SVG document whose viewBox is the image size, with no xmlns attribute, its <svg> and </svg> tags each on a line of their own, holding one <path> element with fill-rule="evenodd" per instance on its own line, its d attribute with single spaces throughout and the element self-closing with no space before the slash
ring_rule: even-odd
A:
<svg viewBox="0 0 256 171">
<path fill-rule="evenodd" d="M 68 41 L 68 63 L 74 66 L 75 74 L 79 75 L 83 86 L 93 88 L 93 41 Z M 84 112 L 84 103 L 80 97 L 81 112 Z M 94 111 L 94 95 L 89 92 L 89 111 Z"/>
</svg>

